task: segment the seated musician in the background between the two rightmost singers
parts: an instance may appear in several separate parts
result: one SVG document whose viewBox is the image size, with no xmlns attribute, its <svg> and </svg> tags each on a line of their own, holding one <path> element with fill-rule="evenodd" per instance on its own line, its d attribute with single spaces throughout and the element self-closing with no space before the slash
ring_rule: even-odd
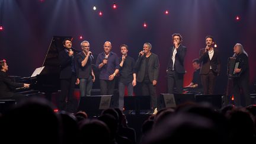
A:
<svg viewBox="0 0 256 144">
<path fill-rule="evenodd" d="M 184 91 L 187 91 L 186 93 L 201 94 L 203 89 L 201 87 L 199 59 L 194 59 L 192 61 L 192 66 L 194 69 L 193 79 L 191 83 L 184 88 Z"/>
</svg>

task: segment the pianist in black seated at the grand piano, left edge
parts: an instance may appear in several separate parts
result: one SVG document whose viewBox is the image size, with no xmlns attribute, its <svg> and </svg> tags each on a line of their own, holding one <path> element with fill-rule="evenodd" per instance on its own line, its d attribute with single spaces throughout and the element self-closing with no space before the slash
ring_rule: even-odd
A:
<svg viewBox="0 0 256 144">
<path fill-rule="evenodd" d="M 12 99 L 17 102 L 25 99 L 25 95 L 15 94 L 15 88 L 29 88 L 30 84 L 13 82 L 7 75 L 8 65 L 5 60 L 0 61 L 0 99 Z"/>
</svg>

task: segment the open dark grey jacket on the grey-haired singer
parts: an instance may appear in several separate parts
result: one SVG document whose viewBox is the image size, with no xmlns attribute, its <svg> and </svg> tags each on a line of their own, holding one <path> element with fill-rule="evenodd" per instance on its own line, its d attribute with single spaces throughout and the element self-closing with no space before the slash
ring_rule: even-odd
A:
<svg viewBox="0 0 256 144">
<path fill-rule="evenodd" d="M 153 80 L 158 80 L 159 75 L 159 60 L 158 56 L 154 53 L 151 53 L 149 56 L 149 63 L 146 67 L 146 57 L 139 56 L 136 63 L 135 69 L 137 71 L 137 82 L 142 82 L 145 76 L 145 69 L 148 69 L 149 80 L 152 82 Z"/>
</svg>

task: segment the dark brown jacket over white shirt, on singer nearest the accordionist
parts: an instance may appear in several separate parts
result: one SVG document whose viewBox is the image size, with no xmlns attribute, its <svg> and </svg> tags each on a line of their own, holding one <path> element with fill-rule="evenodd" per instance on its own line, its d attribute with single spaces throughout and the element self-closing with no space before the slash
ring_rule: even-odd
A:
<svg viewBox="0 0 256 144">
<path fill-rule="evenodd" d="M 206 75 L 210 72 L 210 66 L 212 66 L 213 72 L 217 75 L 220 74 L 220 56 L 217 49 L 214 49 L 212 60 L 208 55 L 208 52 L 205 52 L 204 49 L 200 49 L 199 61 L 201 62 L 200 75 Z"/>
</svg>

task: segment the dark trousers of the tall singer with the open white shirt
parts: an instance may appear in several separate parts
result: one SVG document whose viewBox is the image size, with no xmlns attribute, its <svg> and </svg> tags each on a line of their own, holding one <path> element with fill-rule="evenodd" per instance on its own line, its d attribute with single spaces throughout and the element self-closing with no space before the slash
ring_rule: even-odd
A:
<svg viewBox="0 0 256 144">
<path fill-rule="evenodd" d="M 167 73 L 167 89 L 168 94 L 182 94 L 183 93 L 183 74 L 177 73 L 176 71 L 168 70 Z M 174 91 L 176 86 L 176 91 Z"/>
</svg>

